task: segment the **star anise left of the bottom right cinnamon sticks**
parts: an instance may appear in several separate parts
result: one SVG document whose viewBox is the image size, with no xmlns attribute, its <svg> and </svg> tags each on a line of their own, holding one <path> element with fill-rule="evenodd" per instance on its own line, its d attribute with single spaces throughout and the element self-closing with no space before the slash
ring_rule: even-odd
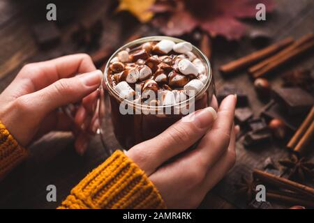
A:
<svg viewBox="0 0 314 223">
<path fill-rule="evenodd" d="M 236 193 L 240 196 L 245 196 L 246 201 L 250 202 L 256 194 L 256 185 L 257 182 L 253 180 L 253 178 L 245 178 L 244 176 L 241 176 L 241 182 L 234 186 L 237 190 Z"/>
</svg>

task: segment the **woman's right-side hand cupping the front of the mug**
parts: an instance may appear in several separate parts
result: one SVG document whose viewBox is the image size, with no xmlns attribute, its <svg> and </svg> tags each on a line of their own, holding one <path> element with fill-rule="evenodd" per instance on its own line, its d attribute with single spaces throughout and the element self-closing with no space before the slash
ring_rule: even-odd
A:
<svg viewBox="0 0 314 223">
<path fill-rule="evenodd" d="M 126 153 L 156 185 L 167 208 L 196 208 L 233 167 L 236 102 L 229 95 L 217 113 L 211 107 L 197 111 Z M 199 139 L 195 149 L 186 151 Z"/>
</svg>

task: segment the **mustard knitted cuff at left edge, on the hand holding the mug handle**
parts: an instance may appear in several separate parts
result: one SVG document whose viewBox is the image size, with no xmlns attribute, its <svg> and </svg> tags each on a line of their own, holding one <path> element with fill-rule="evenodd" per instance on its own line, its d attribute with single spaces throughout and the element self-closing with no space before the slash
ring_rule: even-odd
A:
<svg viewBox="0 0 314 223">
<path fill-rule="evenodd" d="M 0 121 L 0 180 L 27 157 L 22 148 Z"/>
</svg>

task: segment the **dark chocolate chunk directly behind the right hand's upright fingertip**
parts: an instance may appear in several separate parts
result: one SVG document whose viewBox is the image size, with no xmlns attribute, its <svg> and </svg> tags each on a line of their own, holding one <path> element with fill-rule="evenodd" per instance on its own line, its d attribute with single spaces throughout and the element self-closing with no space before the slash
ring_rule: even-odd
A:
<svg viewBox="0 0 314 223">
<path fill-rule="evenodd" d="M 245 107 L 248 105 L 248 95 L 241 89 L 237 89 L 234 84 L 225 84 L 220 91 L 218 91 L 217 99 L 220 103 L 227 95 L 237 94 L 237 107 Z"/>
</svg>

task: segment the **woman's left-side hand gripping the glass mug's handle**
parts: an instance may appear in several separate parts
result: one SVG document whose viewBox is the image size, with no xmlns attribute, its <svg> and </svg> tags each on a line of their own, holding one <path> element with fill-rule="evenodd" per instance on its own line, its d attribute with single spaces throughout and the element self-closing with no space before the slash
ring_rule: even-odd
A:
<svg viewBox="0 0 314 223">
<path fill-rule="evenodd" d="M 94 110 L 101 78 L 87 54 L 29 63 L 1 93 L 0 121 L 22 146 L 52 130 L 72 130 L 83 154 L 99 125 Z M 59 108 L 75 102 L 71 119 Z"/>
</svg>

